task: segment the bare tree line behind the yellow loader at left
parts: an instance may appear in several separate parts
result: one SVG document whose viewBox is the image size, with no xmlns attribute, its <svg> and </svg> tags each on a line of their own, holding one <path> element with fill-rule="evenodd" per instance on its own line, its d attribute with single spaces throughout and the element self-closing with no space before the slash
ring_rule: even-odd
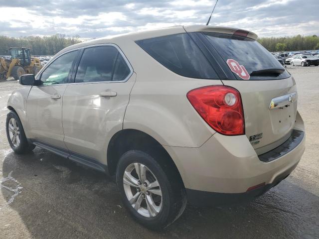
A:
<svg viewBox="0 0 319 239">
<path fill-rule="evenodd" d="M 79 36 L 67 37 L 63 34 L 52 36 L 0 36 L 0 55 L 8 55 L 9 47 L 30 48 L 31 55 L 54 55 L 63 48 L 81 42 Z"/>
</svg>

